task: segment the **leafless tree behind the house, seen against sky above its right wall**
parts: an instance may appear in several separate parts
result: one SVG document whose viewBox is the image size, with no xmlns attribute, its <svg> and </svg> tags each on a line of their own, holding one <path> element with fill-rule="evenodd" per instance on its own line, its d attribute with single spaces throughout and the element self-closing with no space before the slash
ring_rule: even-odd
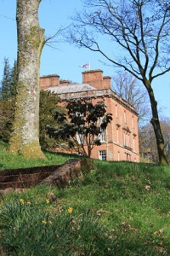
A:
<svg viewBox="0 0 170 256">
<path fill-rule="evenodd" d="M 139 113 L 139 126 L 150 119 L 150 99 L 146 90 L 131 73 L 117 73 L 112 78 L 112 89 L 125 101 L 137 109 Z"/>
</svg>

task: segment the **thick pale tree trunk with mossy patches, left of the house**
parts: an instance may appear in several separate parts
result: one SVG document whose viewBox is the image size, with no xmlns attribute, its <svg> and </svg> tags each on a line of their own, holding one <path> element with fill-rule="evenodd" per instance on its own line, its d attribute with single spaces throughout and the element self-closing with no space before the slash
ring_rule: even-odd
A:
<svg viewBox="0 0 170 256">
<path fill-rule="evenodd" d="M 17 95 L 14 131 L 8 151 L 27 158 L 44 158 L 39 144 L 39 64 L 44 29 L 38 22 L 41 0 L 17 0 Z"/>
</svg>

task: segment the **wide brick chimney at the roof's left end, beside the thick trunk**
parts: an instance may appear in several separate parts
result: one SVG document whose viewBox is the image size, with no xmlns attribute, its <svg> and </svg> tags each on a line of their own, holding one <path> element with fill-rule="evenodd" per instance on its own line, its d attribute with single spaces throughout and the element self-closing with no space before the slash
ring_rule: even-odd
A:
<svg viewBox="0 0 170 256">
<path fill-rule="evenodd" d="M 51 86 L 59 85 L 59 76 L 58 75 L 48 75 L 40 77 L 40 89 L 44 90 Z"/>
</svg>

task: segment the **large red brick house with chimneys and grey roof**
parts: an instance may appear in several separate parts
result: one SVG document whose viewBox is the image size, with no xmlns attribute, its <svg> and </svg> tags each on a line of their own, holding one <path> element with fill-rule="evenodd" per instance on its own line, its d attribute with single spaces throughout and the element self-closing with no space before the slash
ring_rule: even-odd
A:
<svg viewBox="0 0 170 256">
<path fill-rule="evenodd" d="M 101 134 L 101 145 L 94 147 L 91 157 L 139 162 L 138 113 L 111 90 L 111 77 L 103 76 L 102 70 L 82 72 L 82 84 L 59 80 L 58 75 L 43 76 L 40 87 L 57 93 L 63 104 L 69 99 L 80 98 L 94 104 L 105 102 L 107 112 L 112 113 L 112 121 Z"/>
</svg>

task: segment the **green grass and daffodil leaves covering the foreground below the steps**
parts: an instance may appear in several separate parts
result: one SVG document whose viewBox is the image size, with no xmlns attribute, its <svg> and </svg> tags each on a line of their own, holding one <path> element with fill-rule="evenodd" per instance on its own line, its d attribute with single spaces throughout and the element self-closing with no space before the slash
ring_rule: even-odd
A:
<svg viewBox="0 0 170 256">
<path fill-rule="evenodd" d="M 48 164 L 54 164 L 60 155 L 50 157 Z M 4 195 L 2 254 L 170 255 L 170 166 L 94 164 L 96 170 L 71 187 L 37 186 Z"/>
</svg>

